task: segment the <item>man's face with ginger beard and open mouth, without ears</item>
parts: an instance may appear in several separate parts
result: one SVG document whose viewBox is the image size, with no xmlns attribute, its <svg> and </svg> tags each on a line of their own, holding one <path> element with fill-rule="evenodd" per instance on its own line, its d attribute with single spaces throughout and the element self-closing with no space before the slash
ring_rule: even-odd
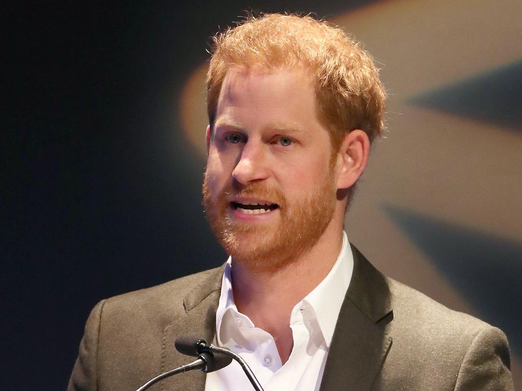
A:
<svg viewBox="0 0 522 391">
<path fill-rule="evenodd" d="M 315 245 L 336 208 L 335 155 L 301 68 L 231 69 L 207 135 L 209 223 L 235 261 L 273 270 Z"/>
</svg>

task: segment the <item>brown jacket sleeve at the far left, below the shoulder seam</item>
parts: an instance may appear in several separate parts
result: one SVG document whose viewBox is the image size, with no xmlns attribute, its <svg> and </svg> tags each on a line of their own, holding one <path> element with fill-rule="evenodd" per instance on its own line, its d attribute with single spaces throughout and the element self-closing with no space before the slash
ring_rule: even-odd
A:
<svg viewBox="0 0 522 391">
<path fill-rule="evenodd" d="M 104 303 L 105 301 L 102 300 L 96 304 L 89 315 L 67 391 L 96 391 L 98 389 L 98 337 Z"/>
</svg>

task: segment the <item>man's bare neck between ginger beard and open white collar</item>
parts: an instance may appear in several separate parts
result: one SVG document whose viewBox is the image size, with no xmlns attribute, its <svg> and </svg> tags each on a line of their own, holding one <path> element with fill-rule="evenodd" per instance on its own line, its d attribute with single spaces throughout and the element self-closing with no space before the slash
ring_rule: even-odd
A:
<svg viewBox="0 0 522 391">
<path fill-rule="evenodd" d="M 256 327 L 274 337 L 283 363 L 293 347 L 291 311 L 326 277 L 341 247 L 342 223 L 329 224 L 309 251 L 275 271 L 257 270 L 246 263 L 232 262 L 236 307 Z"/>
</svg>

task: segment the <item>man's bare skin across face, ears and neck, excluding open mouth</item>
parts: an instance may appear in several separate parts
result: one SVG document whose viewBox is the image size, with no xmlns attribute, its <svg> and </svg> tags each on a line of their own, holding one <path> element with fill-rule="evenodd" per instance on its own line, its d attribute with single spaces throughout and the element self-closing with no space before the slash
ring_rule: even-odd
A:
<svg viewBox="0 0 522 391">
<path fill-rule="evenodd" d="M 293 346 L 292 308 L 337 259 L 343 189 L 361 175 L 370 147 L 365 133 L 353 130 L 331 150 L 311 80 L 299 67 L 232 68 L 215 126 L 207 128 L 206 213 L 233 258 L 236 306 L 274 336 L 282 362 Z M 246 214 L 231 201 L 278 207 Z"/>
</svg>

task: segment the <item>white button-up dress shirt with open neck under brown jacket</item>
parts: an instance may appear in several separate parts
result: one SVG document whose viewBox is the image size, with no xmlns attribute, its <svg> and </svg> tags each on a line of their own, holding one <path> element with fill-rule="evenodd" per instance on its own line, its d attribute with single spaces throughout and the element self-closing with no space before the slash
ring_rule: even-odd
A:
<svg viewBox="0 0 522 391">
<path fill-rule="evenodd" d="M 250 366 L 265 391 L 317 391 L 337 317 L 350 285 L 353 255 L 346 233 L 342 248 L 328 275 L 306 297 L 295 304 L 290 315 L 293 348 L 281 365 L 274 338 L 238 311 L 232 295 L 229 258 L 221 284 L 213 344 L 238 353 Z M 247 391 L 252 385 L 241 366 L 232 361 L 226 368 L 207 374 L 205 391 Z"/>
</svg>

